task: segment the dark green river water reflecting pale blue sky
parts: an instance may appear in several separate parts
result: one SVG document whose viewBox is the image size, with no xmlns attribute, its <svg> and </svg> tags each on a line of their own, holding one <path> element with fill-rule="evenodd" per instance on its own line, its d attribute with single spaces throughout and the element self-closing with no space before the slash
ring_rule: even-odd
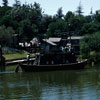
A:
<svg viewBox="0 0 100 100">
<path fill-rule="evenodd" d="M 0 100 L 100 100 L 100 68 L 0 72 Z"/>
</svg>

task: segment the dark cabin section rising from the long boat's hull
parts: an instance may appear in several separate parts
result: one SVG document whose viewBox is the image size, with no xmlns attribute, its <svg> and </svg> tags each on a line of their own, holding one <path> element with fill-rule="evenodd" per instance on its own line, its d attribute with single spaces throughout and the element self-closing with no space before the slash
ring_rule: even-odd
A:
<svg viewBox="0 0 100 100">
<path fill-rule="evenodd" d="M 38 65 L 52 65 L 52 64 L 68 64 L 75 63 L 76 56 L 73 53 L 37 53 L 35 64 Z"/>
</svg>

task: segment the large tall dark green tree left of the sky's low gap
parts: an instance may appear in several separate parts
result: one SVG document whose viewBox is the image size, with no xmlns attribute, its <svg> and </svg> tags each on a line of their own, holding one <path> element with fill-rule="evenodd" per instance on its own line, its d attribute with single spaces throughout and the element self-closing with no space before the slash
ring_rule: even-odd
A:
<svg viewBox="0 0 100 100">
<path fill-rule="evenodd" d="M 40 34 L 42 9 L 38 3 L 13 7 L 9 16 L 13 21 L 12 23 L 17 25 L 16 33 L 20 34 L 23 40 L 29 41 L 37 34 Z"/>
</svg>

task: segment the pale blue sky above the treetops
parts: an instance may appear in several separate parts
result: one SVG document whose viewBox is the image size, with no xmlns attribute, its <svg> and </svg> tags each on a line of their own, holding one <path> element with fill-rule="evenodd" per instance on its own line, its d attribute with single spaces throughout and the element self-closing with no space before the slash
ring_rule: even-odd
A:
<svg viewBox="0 0 100 100">
<path fill-rule="evenodd" d="M 89 15 L 91 8 L 93 13 L 96 10 L 100 10 L 100 0 L 19 0 L 21 4 L 31 4 L 37 2 L 40 4 L 40 7 L 44 11 L 45 14 L 55 15 L 57 13 L 58 8 L 62 7 L 63 14 L 66 14 L 68 11 L 75 12 L 79 3 L 81 1 L 81 5 L 83 7 L 84 15 Z M 14 4 L 15 0 L 8 0 L 9 5 Z M 2 4 L 2 0 L 0 0 L 0 5 Z"/>
</svg>

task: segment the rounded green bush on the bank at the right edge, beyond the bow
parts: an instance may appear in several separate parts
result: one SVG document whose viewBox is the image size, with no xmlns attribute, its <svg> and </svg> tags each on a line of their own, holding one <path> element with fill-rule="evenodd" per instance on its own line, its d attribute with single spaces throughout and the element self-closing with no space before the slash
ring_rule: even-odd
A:
<svg viewBox="0 0 100 100">
<path fill-rule="evenodd" d="M 80 42 L 80 52 L 90 62 L 100 62 L 100 32 L 86 35 Z"/>
</svg>

